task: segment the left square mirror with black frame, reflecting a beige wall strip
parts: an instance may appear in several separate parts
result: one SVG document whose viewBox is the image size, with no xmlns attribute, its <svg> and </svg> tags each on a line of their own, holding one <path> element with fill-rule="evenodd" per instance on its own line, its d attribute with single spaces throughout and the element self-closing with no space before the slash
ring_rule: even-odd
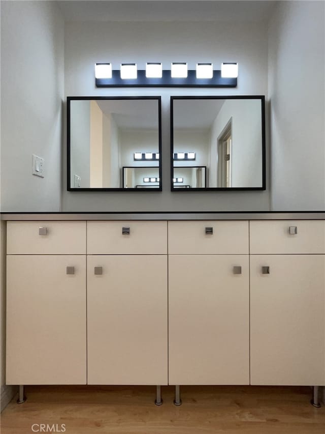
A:
<svg viewBox="0 0 325 434">
<path fill-rule="evenodd" d="M 161 191 L 160 97 L 68 97 L 67 104 L 69 191 Z"/>
</svg>

